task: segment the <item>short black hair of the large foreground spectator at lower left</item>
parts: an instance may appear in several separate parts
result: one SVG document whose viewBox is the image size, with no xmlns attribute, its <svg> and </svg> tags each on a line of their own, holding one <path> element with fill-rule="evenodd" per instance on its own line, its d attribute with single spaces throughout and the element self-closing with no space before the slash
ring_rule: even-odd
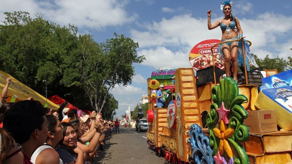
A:
<svg viewBox="0 0 292 164">
<path fill-rule="evenodd" d="M 22 144 L 30 139 L 35 129 L 42 130 L 45 114 L 40 101 L 18 101 L 6 111 L 3 128 L 12 134 L 16 143 Z"/>
</svg>

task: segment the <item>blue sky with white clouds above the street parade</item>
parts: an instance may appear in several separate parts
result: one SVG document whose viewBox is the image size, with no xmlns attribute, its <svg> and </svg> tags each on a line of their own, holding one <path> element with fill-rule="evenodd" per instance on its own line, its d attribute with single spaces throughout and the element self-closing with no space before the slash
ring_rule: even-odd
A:
<svg viewBox="0 0 292 164">
<path fill-rule="evenodd" d="M 234 0 L 232 14 L 238 17 L 243 35 L 252 42 L 251 51 L 260 58 L 267 54 L 287 59 L 292 55 L 291 0 Z M 197 0 L 2 0 L 3 12 L 38 12 L 51 22 L 78 26 L 96 42 L 124 34 L 139 43 L 138 55 L 146 61 L 134 64 L 136 76 L 127 87 L 111 92 L 119 101 L 117 116 L 137 105 L 147 94 L 146 79 L 159 68 L 191 67 L 190 50 L 206 39 L 221 39 L 220 28 L 207 29 L 207 10 L 212 23 L 223 18 L 221 1 Z"/>
</svg>

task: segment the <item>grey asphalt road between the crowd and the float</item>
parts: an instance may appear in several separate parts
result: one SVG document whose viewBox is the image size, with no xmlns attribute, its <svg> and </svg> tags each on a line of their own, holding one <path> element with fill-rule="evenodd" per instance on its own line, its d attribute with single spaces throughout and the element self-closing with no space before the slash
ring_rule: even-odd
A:
<svg viewBox="0 0 292 164">
<path fill-rule="evenodd" d="M 111 134 L 104 149 L 93 164 L 169 163 L 148 146 L 146 132 L 134 128 L 120 127 L 120 134 Z"/>
</svg>

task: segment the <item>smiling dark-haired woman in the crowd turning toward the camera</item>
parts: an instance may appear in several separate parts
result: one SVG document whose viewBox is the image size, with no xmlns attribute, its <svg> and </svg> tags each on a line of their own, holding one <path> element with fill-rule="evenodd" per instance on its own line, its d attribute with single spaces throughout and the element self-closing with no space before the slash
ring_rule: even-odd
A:
<svg viewBox="0 0 292 164">
<path fill-rule="evenodd" d="M 63 138 L 57 144 L 56 151 L 63 163 L 83 164 L 86 154 L 77 146 L 77 135 L 70 123 L 62 122 Z"/>
</svg>

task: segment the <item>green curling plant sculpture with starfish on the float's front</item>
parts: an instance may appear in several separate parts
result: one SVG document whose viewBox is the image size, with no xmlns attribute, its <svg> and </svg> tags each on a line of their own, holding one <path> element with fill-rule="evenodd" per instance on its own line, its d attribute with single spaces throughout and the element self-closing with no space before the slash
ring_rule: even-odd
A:
<svg viewBox="0 0 292 164">
<path fill-rule="evenodd" d="M 249 129 L 243 125 L 247 112 L 241 105 L 248 101 L 247 98 L 238 94 L 235 80 L 226 77 L 220 80 L 220 85 L 212 88 L 212 100 L 214 103 L 210 106 L 207 125 L 214 161 L 249 163 L 248 156 L 239 143 L 249 138 Z"/>
</svg>

